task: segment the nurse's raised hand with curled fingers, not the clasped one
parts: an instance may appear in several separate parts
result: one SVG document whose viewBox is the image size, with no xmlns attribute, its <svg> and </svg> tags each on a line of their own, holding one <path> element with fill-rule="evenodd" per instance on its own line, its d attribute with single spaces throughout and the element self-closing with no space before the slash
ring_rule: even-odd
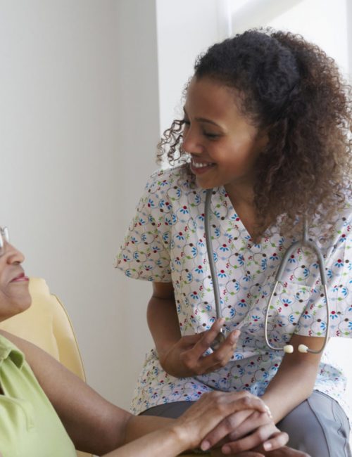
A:
<svg viewBox="0 0 352 457">
<path fill-rule="evenodd" d="M 225 319 L 220 318 L 206 332 L 181 337 L 168 352 L 159 356 L 166 373 L 176 378 L 188 378 L 211 373 L 225 366 L 236 349 L 239 330 L 233 330 L 227 335 L 225 341 L 212 354 L 204 355 L 220 333 L 224 322 Z"/>
</svg>

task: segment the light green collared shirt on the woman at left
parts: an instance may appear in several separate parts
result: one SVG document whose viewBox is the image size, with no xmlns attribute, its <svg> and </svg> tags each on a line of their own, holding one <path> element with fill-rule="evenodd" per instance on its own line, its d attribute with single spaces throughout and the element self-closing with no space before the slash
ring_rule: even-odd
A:
<svg viewBox="0 0 352 457">
<path fill-rule="evenodd" d="M 77 457 L 73 442 L 25 356 L 0 335 L 0 453 L 3 457 Z"/>
</svg>

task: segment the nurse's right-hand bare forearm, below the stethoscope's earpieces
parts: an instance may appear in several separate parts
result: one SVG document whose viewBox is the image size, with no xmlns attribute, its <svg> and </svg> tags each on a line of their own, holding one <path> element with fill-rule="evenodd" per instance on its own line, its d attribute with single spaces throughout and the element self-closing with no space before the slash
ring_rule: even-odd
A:
<svg viewBox="0 0 352 457">
<path fill-rule="evenodd" d="M 313 392 L 322 353 L 301 354 L 298 352 L 298 345 L 303 344 L 310 349 L 319 350 L 323 342 L 323 337 L 291 337 L 290 344 L 294 346 L 294 352 L 284 355 L 275 377 L 262 397 L 269 406 L 275 423 L 287 416 Z"/>
</svg>

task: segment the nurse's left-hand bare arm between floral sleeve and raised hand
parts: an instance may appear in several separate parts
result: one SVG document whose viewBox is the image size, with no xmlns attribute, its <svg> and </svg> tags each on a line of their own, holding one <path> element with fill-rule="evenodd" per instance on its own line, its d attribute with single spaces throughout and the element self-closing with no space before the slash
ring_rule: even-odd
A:
<svg viewBox="0 0 352 457">
<path fill-rule="evenodd" d="M 175 300 L 151 297 L 146 316 L 156 350 L 163 356 L 181 337 Z"/>
</svg>

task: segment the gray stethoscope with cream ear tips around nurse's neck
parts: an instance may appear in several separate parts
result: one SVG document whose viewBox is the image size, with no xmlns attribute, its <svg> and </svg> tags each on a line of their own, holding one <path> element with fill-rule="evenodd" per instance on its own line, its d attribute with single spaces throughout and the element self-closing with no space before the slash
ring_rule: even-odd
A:
<svg viewBox="0 0 352 457">
<path fill-rule="evenodd" d="M 206 232 L 206 249 L 208 251 L 208 261 L 209 261 L 209 266 L 210 266 L 210 275 L 211 275 L 211 280 L 213 282 L 213 290 L 214 290 L 214 299 L 215 299 L 215 311 L 216 311 L 216 318 L 221 318 L 222 317 L 222 309 L 220 307 L 220 288 L 219 288 L 219 283 L 218 283 L 218 275 L 216 273 L 216 268 L 215 268 L 215 260 L 214 260 L 214 252 L 213 252 L 213 243 L 211 242 L 211 236 L 210 236 L 210 201 L 211 201 L 211 195 L 213 193 L 213 189 L 207 189 L 206 191 L 206 205 L 205 205 L 205 210 L 204 210 L 204 226 L 205 226 L 205 232 Z M 322 252 L 320 251 L 318 245 L 313 241 L 308 239 L 308 227 L 307 227 L 307 222 L 304 221 L 303 224 L 303 238 L 301 240 L 295 241 L 294 243 L 291 244 L 291 246 L 287 249 L 287 251 L 284 254 L 284 257 L 282 258 L 282 261 L 279 264 L 279 267 L 277 269 L 277 273 L 275 275 L 275 285 L 274 288 L 272 289 L 272 292 L 270 294 L 270 298 L 268 301 L 268 306 L 265 311 L 265 321 L 264 321 L 264 336 L 265 336 L 265 343 L 266 345 L 274 350 L 274 351 L 284 351 L 287 352 L 288 354 L 291 354 L 294 352 L 294 347 L 292 345 L 285 345 L 284 347 L 275 347 L 272 346 L 268 340 L 268 315 L 269 315 L 269 309 L 270 305 L 272 303 L 272 298 L 275 296 L 275 292 L 277 289 L 277 285 L 279 282 L 282 280 L 282 276 L 284 274 L 284 269 L 287 264 L 287 261 L 289 260 L 289 257 L 291 257 L 292 252 L 294 252 L 297 248 L 298 245 L 301 246 L 307 246 L 310 247 L 313 252 L 315 252 L 315 255 L 318 257 L 318 264 L 319 264 L 319 271 L 320 271 L 320 278 L 322 281 L 322 286 L 324 288 L 324 294 L 325 294 L 325 307 L 327 310 L 327 328 L 326 328 L 326 333 L 325 333 L 325 339 L 322 344 L 322 347 L 318 351 L 314 351 L 313 349 L 309 349 L 308 346 L 306 345 L 299 345 L 298 346 L 298 351 L 299 352 L 310 352 L 312 354 L 320 354 L 320 352 L 324 351 L 327 341 L 329 338 L 329 316 L 330 316 L 330 305 L 329 305 L 329 297 L 327 294 L 327 277 L 325 274 L 325 264 L 324 264 L 324 259 L 322 257 Z M 239 324 L 240 326 L 241 324 Z M 237 326 L 237 328 L 239 328 Z M 226 335 L 223 329 L 220 330 L 220 333 L 218 333 L 218 336 L 215 338 L 215 341 L 213 342 L 213 345 L 211 345 L 212 349 L 217 349 L 219 345 L 225 341 Z"/>
</svg>

